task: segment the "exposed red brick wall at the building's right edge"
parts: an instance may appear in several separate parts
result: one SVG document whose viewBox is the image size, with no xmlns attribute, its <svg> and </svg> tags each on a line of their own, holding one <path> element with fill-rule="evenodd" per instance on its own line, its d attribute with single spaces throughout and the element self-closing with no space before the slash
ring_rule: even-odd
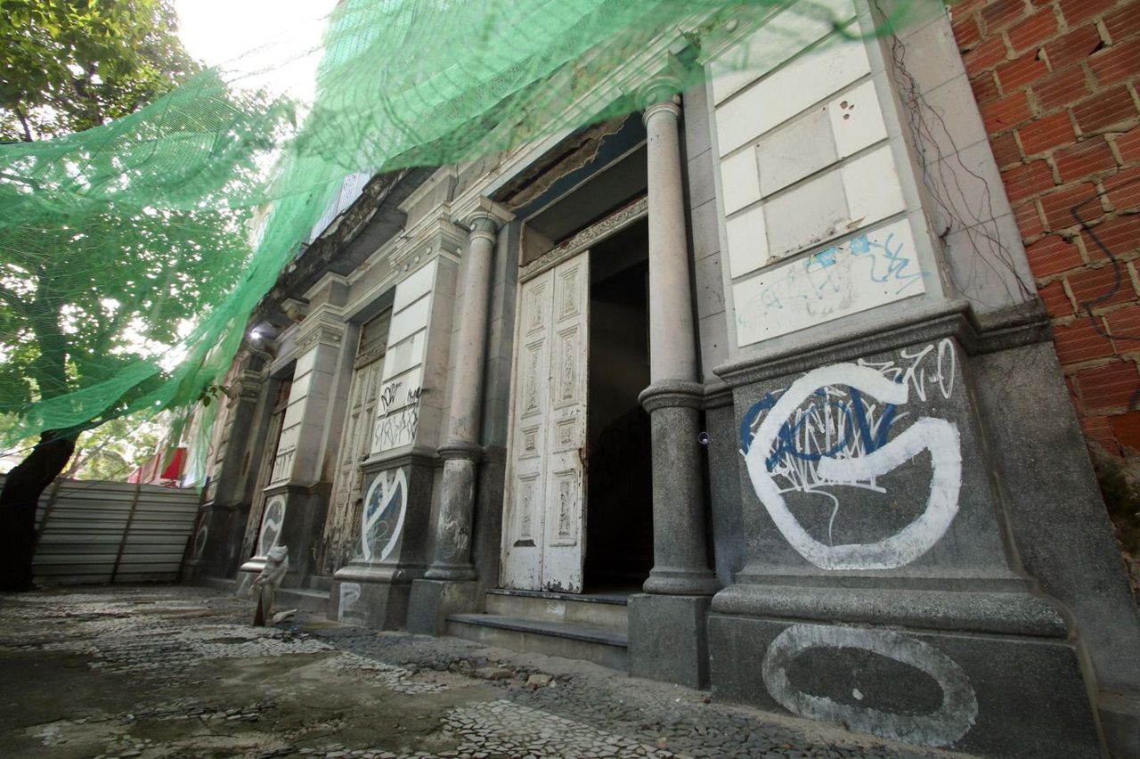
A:
<svg viewBox="0 0 1140 759">
<path fill-rule="evenodd" d="M 1140 1 L 967 0 L 952 18 L 1081 426 L 1140 449 Z"/>
</svg>

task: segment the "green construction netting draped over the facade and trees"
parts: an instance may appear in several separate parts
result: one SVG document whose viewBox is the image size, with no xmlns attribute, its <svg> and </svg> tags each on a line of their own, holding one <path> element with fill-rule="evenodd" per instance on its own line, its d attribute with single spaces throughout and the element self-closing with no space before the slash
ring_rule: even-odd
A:
<svg viewBox="0 0 1140 759">
<path fill-rule="evenodd" d="M 692 87 L 718 50 L 719 70 L 766 68 L 943 11 L 872 5 L 344 0 L 314 49 L 264 48 L 104 126 L 0 147 L 0 444 L 193 405 L 349 173 L 636 111 L 646 75 Z"/>
</svg>

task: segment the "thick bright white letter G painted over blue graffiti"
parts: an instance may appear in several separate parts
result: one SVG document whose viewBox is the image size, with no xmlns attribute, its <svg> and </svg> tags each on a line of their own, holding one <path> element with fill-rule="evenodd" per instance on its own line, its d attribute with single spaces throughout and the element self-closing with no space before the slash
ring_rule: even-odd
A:
<svg viewBox="0 0 1140 759">
<path fill-rule="evenodd" d="M 756 495 L 791 547 L 821 569 L 878 570 L 909 564 L 938 542 L 958 514 L 958 495 L 962 484 L 958 427 L 945 419 L 925 416 L 871 452 L 853 458 L 822 457 L 820 476 L 838 483 L 882 476 L 922 450 L 930 451 L 934 468 L 926 509 L 905 528 L 877 542 L 824 545 L 808 534 L 788 508 L 780 485 L 768 471 L 768 457 L 789 416 L 819 389 L 831 385 L 847 385 L 895 405 L 905 403 L 910 392 L 907 384 L 891 382 L 874 369 L 855 364 L 834 364 L 808 372 L 775 401 L 744 454 Z"/>
</svg>

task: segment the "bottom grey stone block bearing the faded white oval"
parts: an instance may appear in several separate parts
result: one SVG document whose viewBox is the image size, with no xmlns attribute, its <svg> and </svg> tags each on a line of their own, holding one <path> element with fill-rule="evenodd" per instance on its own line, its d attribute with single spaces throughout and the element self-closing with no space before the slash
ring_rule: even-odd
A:
<svg viewBox="0 0 1140 759">
<path fill-rule="evenodd" d="M 709 617 L 726 701 L 995 757 L 1101 757 L 1064 638 Z"/>
</svg>

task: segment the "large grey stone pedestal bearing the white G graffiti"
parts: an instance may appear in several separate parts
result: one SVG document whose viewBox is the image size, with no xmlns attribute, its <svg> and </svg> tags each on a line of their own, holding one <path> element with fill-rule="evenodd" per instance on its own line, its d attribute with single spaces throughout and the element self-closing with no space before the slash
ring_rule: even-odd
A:
<svg viewBox="0 0 1140 759">
<path fill-rule="evenodd" d="M 993 476 L 1016 430 L 979 401 L 992 357 L 1042 334 L 1032 313 L 986 329 L 944 310 L 718 369 L 735 415 L 710 434 L 739 440 L 747 557 L 711 602 L 719 697 L 985 756 L 1101 756 L 1069 602 L 1019 557 L 1065 538 L 1019 521 Z"/>
</svg>

